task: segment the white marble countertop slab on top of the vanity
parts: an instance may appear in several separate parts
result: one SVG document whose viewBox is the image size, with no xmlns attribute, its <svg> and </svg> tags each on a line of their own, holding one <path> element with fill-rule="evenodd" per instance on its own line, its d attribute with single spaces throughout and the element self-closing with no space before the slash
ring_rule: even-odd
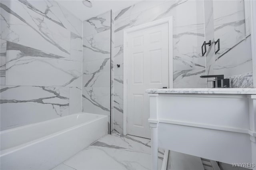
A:
<svg viewBox="0 0 256 170">
<path fill-rule="evenodd" d="M 148 89 L 146 93 L 256 95 L 256 88 Z"/>
</svg>

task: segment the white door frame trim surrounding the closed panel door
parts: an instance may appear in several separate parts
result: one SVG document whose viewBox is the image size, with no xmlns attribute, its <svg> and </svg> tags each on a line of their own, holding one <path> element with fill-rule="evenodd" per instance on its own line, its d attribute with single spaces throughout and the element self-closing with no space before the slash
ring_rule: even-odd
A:
<svg viewBox="0 0 256 170">
<path fill-rule="evenodd" d="M 172 89 L 173 88 L 173 40 L 172 40 L 172 31 L 173 31 L 173 26 L 172 26 L 172 16 L 167 17 L 167 18 L 163 18 L 160 20 L 156 20 L 156 21 L 152 21 L 152 22 L 148 22 L 146 24 L 142 24 L 139 26 L 135 26 L 132 28 L 128 28 L 126 30 L 124 30 L 124 76 L 123 76 L 123 82 L 124 82 L 124 91 L 123 91 L 123 106 L 124 106 L 124 113 L 123 113 L 123 134 L 126 135 L 127 134 L 127 87 L 128 87 L 128 83 L 127 83 L 127 73 L 128 73 L 128 57 L 127 57 L 127 35 L 131 32 L 136 32 L 139 30 L 143 30 L 146 28 L 150 28 L 153 26 L 158 26 L 160 24 L 165 24 L 168 23 L 168 43 L 169 43 L 169 88 Z"/>
</svg>

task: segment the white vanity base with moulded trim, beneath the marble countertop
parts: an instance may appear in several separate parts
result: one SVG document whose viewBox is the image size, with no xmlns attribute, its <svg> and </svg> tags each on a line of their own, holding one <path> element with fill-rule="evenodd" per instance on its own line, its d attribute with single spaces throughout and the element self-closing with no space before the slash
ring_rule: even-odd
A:
<svg viewBox="0 0 256 170">
<path fill-rule="evenodd" d="M 147 91 L 153 170 L 158 147 L 228 164 L 256 163 L 256 90 L 239 95 L 167 90 Z"/>
</svg>

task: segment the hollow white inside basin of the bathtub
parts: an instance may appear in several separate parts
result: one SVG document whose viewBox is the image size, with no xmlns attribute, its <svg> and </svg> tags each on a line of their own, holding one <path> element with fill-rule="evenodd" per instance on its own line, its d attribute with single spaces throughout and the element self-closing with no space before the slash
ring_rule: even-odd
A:
<svg viewBox="0 0 256 170">
<path fill-rule="evenodd" d="M 3 130 L 0 132 L 0 150 L 2 151 L 19 146 L 26 142 L 72 128 L 74 126 L 90 123 L 103 117 L 106 116 L 92 113 L 76 113 L 49 121 Z"/>
</svg>

